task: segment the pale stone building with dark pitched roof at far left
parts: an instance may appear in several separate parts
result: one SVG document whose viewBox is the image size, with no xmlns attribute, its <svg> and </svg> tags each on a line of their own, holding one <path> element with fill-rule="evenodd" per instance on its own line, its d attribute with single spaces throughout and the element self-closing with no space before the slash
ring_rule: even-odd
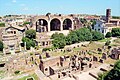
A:
<svg viewBox="0 0 120 80">
<path fill-rule="evenodd" d="M 2 41 L 5 53 L 15 53 L 20 50 L 20 42 L 24 28 L 7 27 L 2 30 Z"/>
</svg>

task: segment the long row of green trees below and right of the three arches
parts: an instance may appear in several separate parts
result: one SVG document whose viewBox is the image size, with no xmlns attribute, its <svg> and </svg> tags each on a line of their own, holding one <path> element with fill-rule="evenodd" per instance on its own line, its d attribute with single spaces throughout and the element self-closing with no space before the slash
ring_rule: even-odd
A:
<svg viewBox="0 0 120 80">
<path fill-rule="evenodd" d="M 64 48 L 64 46 L 74 44 L 81 41 L 97 41 L 104 38 L 104 35 L 97 31 L 91 31 L 88 28 L 80 28 L 75 31 L 71 31 L 67 36 L 62 33 L 55 33 L 51 36 L 53 39 L 53 46 L 55 48 Z"/>
</svg>

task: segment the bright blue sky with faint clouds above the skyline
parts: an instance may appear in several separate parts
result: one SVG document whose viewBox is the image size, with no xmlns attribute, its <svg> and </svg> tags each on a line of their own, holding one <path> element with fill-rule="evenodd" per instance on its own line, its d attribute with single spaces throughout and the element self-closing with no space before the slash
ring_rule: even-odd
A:
<svg viewBox="0 0 120 80">
<path fill-rule="evenodd" d="M 0 15 L 8 14 L 98 14 L 120 16 L 120 0 L 0 0 Z"/>
</svg>

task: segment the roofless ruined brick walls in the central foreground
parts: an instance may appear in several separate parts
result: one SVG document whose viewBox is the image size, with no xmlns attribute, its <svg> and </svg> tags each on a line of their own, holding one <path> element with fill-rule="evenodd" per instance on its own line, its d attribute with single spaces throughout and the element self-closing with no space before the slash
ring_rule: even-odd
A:
<svg viewBox="0 0 120 80">
<path fill-rule="evenodd" d="M 58 78 L 71 72 L 81 71 L 92 67 L 92 58 L 87 56 L 58 56 L 41 59 L 39 68 L 46 76 L 58 74 Z"/>
</svg>

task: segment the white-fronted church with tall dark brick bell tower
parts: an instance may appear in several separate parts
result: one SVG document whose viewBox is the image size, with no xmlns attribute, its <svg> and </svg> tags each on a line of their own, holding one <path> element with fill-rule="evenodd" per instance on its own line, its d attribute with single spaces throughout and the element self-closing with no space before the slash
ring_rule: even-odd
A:
<svg viewBox="0 0 120 80">
<path fill-rule="evenodd" d="M 112 19 L 111 9 L 107 9 L 106 16 L 102 16 L 101 20 L 96 20 L 94 30 L 106 35 L 107 32 L 111 32 L 112 28 L 118 27 L 120 27 L 120 19 Z"/>
</svg>

